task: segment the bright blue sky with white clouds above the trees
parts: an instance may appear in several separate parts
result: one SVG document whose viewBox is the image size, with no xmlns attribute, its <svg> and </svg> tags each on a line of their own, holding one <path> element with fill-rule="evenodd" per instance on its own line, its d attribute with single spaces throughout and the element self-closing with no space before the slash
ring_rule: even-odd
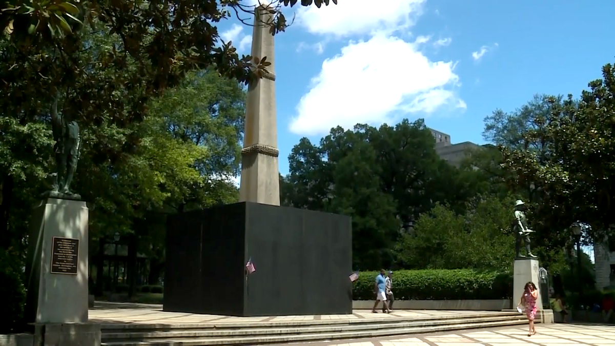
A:
<svg viewBox="0 0 615 346">
<path fill-rule="evenodd" d="M 282 174 L 301 137 L 318 143 L 338 125 L 424 118 L 453 143 L 484 143 L 491 111 L 536 93 L 578 96 L 615 62 L 615 1 L 338 0 L 294 11 L 276 35 Z M 248 54 L 252 28 L 218 30 Z"/>
</svg>

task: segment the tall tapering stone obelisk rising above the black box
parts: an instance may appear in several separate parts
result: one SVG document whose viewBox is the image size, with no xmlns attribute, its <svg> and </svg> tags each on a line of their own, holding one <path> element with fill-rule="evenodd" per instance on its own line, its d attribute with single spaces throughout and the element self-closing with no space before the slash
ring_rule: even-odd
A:
<svg viewBox="0 0 615 346">
<path fill-rule="evenodd" d="M 266 25 L 273 18 L 267 9 L 261 5 L 255 10 L 251 55 L 267 57 L 270 74 L 248 86 L 239 201 L 279 206 L 274 36 Z"/>
</svg>

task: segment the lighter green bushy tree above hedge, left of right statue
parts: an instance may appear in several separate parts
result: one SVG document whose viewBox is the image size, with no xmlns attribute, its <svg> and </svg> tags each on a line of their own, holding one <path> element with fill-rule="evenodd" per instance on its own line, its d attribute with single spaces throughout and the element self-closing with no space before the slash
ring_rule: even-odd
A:
<svg viewBox="0 0 615 346">
<path fill-rule="evenodd" d="M 399 259 L 416 269 L 509 270 L 515 242 L 509 227 L 512 201 L 488 198 L 465 215 L 437 204 L 400 240 Z"/>
</svg>

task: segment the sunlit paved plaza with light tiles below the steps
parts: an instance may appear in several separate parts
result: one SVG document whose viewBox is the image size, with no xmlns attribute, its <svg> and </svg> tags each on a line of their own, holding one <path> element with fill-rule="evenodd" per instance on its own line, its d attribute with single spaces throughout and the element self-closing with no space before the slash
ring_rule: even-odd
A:
<svg viewBox="0 0 615 346">
<path fill-rule="evenodd" d="M 528 337 L 527 326 L 472 329 L 363 340 L 335 340 L 295 345 L 310 346 L 572 346 L 615 345 L 615 326 L 584 324 L 537 324 L 538 334 Z"/>
</svg>

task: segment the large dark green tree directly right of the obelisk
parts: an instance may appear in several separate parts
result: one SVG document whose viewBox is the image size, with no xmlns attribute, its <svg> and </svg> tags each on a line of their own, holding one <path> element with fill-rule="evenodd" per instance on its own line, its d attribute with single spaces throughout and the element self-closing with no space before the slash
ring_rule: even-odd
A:
<svg viewBox="0 0 615 346">
<path fill-rule="evenodd" d="M 437 202 L 464 211 L 477 187 L 472 171 L 438 157 L 422 120 L 379 128 L 357 124 L 352 131 L 336 127 L 319 146 L 301 139 L 288 160 L 281 201 L 352 215 L 354 259 L 361 269 L 393 265 L 402 228 Z"/>
</svg>

